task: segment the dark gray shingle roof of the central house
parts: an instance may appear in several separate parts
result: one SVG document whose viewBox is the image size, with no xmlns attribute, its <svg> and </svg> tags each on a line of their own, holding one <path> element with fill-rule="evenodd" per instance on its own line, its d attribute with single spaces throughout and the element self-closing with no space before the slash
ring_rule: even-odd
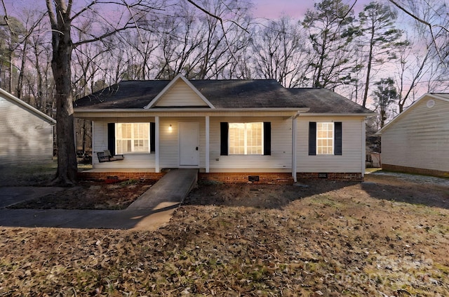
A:
<svg viewBox="0 0 449 297">
<path fill-rule="evenodd" d="M 88 109 L 142 109 L 170 81 L 121 81 L 101 91 L 76 100 L 74 107 Z M 275 80 L 192 80 L 192 85 L 220 108 L 300 108 L 310 107 L 319 113 L 370 113 L 325 88 L 284 88 Z"/>
</svg>

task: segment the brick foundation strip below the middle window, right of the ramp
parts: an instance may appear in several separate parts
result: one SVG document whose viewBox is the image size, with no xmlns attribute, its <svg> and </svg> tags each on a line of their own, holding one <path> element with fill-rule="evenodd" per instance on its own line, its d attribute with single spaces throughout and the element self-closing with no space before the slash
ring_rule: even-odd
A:
<svg viewBox="0 0 449 297">
<path fill-rule="evenodd" d="M 257 184 L 292 184 L 291 173 L 198 173 L 198 180 L 213 180 L 221 183 L 248 183 Z"/>
</svg>

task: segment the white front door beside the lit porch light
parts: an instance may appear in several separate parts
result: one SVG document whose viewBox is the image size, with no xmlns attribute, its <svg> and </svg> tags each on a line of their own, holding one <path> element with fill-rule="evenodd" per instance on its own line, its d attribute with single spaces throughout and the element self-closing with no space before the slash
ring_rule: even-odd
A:
<svg viewBox="0 0 449 297">
<path fill-rule="evenodd" d="M 199 166 L 199 123 L 180 125 L 180 166 Z"/>
</svg>

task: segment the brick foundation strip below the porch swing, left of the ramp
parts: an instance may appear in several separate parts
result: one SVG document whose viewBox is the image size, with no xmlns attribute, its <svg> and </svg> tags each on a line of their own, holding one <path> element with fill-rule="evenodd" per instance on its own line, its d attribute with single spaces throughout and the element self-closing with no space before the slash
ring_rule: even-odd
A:
<svg viewBox="0 0 449 297">
<path fill-rule="evenodd" d="M 95 171 L 81 171 L 78 173 L 80 180 L 91 181 L 103 181 L 109 177 L 119 180 L 160 180 L 166 173 L 155 172 L 119 172 L 119 171 L 107 171 L 107 172 L 95 172 Z"/>
</svg>

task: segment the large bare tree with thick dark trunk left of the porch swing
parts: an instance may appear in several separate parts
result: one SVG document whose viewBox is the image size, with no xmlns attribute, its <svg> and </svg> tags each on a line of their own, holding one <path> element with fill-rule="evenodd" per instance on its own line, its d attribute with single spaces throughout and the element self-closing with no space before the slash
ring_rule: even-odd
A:
<svg viewBox="0 0 449 297">
<path fill-rule="evenodd" d="M 100 41 L 116 32 L 128 28 L 135 28 L 138 22 L 145 21 L 144 13 L 140 15 L 133 14 L 133 10 L 145 11 L 151 14 L 155 10 L 156 3 L 148 4 L 144 1 L 135 1 L 133 4 L 127 4 L 126 1 L 111 1 L 109 5 L 122 9 L 122 14 L 116 16 L 117 22 L 112 24 L 103 17 L 102 14 L 95 11 L 98 6 L 97 1 L 79 8 L 78 11 L 72 11 L 73 0 L 46 0 L 48 16 L 52 29 L 52 70 L 55 79 L 55 101 L 56 101 L 56 135 L 58 145 L 58 170 L 54 184 L 73 185 L 76 182 L 76 154 L 74 143 L 74 115 L 73 115 L 73 94 L 72 94 L 72 51 L 81 44 L 88 44 Z M 159 4 L 157 4 L 158 7 Z M 101 27 L 102 30 L 95 27 L 85 39 L 77 41 L 72 40 L 72 29 L 86 29 L 76 27 L 76 21 L 83 23 L 83 18 L 99 19 L 107 24 Z M 136 20 L 136 17 L 138 19 Z M 92 25 L 90 27 L 93 27 Z M 74 34 L 76 36 L 76 34 Z M 86 36 L 83 35 L 83 36 Z"/>
</svg>

